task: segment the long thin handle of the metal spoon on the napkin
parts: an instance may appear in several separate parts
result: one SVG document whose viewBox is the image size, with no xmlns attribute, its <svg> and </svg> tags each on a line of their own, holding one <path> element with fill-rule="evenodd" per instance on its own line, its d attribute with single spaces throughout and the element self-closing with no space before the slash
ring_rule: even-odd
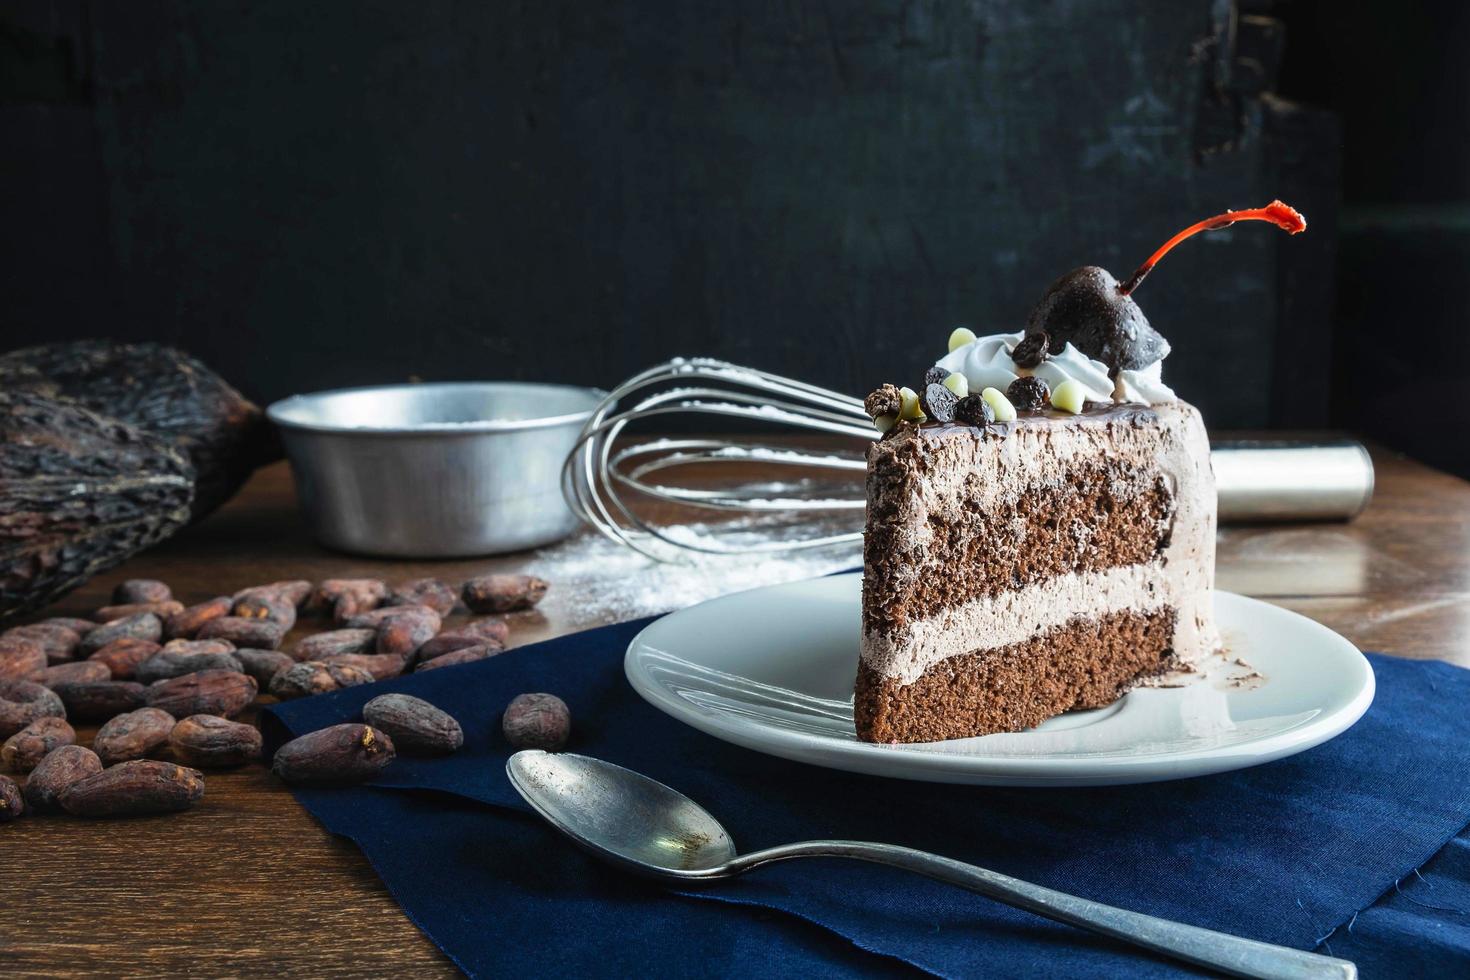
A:
<svg viewBox="0 0 1470 980">
<path fill-rule="evenodd" d="M 1351 980 L 1357 967 L 1347 959 L 1335 959 L 1313 952 L 1273 946 L 1241 939 L 1198 926 L 1185 926 L 1167 918 L 1129 912 L 1101 902 L 1055 892 L 1019 879 L 951 861 L 936 854 L 864 840 L 804 840 L 779 848 L 745 854 L 719 868 L 722 876 L 739 874 L 772 861 L 789 858 L 856 858 L 906 871 L 917 871 L 932 879 L 967 887 L 1016 908 L 1080 926 L 1113 939 L 1152 949 L 1201 967 L 1211 967 L 1236 977 L 1307 979 L 1336 977 Z"/>
</svg>

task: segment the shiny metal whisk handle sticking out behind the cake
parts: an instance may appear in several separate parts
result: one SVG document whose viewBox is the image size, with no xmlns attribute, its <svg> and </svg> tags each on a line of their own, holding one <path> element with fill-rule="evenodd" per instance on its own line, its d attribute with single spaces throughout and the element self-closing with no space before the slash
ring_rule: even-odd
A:
<svg viewBox="0 0 1470 980">
<path fill-rule="evenodd" d="M 1373 460 L 1352 439 L 1217 442 L 1220 523 L 1351 520 L 1373 498 Z"/>
</svg>

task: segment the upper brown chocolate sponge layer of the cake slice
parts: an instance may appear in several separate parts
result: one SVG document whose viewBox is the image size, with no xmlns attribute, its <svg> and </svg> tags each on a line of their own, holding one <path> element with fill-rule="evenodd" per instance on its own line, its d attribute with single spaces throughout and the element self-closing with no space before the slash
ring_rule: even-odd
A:
<svg viewBox="0 0 1470 980">
<path fill-rule="evenodd" d="M 907 479 L 926 450 L 919 441 L 875 458 L 869 479 Z M 967 479 L 973 479 L 967 478 Z M 864 547 L 900 554 L 911 535 L 892 502 L 903 492 L 870 488 Z M 888 513 L 885 513 L 888 504 Z M 1070 572 L 1155 561 L 1169 544 L 1175 494 L 1158 472 L 1119 460 L 1078 466 L 1066 479 L 1020 491 L 988 508 L 928 516 L 928 541 L 907 563 L 872 561 L 863 579 L 863 626 L 901 629 L 980 595 L 1025 588 Z"/>
</svg>

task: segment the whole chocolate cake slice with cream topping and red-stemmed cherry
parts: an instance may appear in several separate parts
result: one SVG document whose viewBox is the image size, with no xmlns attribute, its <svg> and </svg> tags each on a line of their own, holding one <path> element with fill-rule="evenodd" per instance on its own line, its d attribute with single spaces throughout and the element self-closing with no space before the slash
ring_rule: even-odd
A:
<svg viewBox="0 0 1470 980">
<path fill-rule="evenodd" d="M 1189 234 L 1257 219 L 1305 228 L 1274 201 L 1123 284 L 1078 269 L 1023 332 L 956 331 L 923 394 L 869 397 L 858 738 L 1029 729 L 1219 646 L 1210 444 L 1130 292 Z"/>
</svg>

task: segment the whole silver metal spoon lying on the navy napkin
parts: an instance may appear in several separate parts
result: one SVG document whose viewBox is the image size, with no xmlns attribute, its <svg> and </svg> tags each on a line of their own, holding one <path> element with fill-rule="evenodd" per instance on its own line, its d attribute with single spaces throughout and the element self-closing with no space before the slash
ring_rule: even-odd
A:
<svg viewBox="0 0 1470 980">
<path fill-rule="evenodd" d="M 616 865 L 682 883 L 713 882 L 788 858 L 857 858 L 917 871 L 997 901 L 1176 959 L 1238 977 L 1358 976 L 1347 959 L 1141 915 L 951 861 L 863 840 L 803 840 L 736 854 L 725 827 L 703 807 L 631 770 L 569 752 L 516 752 L 506 774 L 526 802 L 562 833 Z"/>
</svg>

